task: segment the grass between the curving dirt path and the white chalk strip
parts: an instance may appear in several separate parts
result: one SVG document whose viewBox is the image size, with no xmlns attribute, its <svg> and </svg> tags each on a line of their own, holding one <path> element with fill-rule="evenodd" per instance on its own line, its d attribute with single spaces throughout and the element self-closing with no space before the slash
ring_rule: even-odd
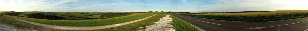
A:
<svg viewBox="0 0 308 31">
<path fill-rule="evenodd" d="M 142 27 L 143 25 L 144 26 L 153 25 L 155 24 L 154 22 L 157 22 L 160 20 L 160 18 L 168 15 L 168 13 L 164 13 L 164 12 L 151 12 L 151 13 L 156 14 L 156 16 L 152 16 L 148 19 L 126 24 L 123 26 L 117 26 L 117 27 L 106 28 L 106 29 L 88 30 L 88 31 L 136 31 L 136 30 L 141 30 L 140 27 Z"/>
</svg>

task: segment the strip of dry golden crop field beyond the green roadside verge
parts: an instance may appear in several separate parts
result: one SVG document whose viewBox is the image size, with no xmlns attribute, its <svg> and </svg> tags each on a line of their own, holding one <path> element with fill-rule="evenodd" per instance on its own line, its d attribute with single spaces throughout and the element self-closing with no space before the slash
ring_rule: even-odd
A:
<svg viewBox="0 0 308 31">
<path fill-rule="evenodd" d="M 244 13 L 206 13 L 206 14 L 190 14 L 190 15 L 225 15 L 225 16 L 257 16 L 257 15 L 277 15 L 277 14 L 298 14 L 308 13 L 308 10 L 286 10 L 271 12 L 244 12 Z"/>
</svg>

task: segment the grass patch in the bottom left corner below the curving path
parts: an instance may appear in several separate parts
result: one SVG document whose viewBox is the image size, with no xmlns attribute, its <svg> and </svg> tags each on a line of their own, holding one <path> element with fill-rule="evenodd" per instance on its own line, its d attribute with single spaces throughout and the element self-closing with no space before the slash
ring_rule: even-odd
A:
<svg viewBox="0 0 308 31">
<path fill-rule="evenodd" d="M 37 26 L 37 25 L 26 23 L 26 22 L 18 21 L 15 19 L 11 19 L 6 16 L 0 16 L 0 21 L 2 24 L 6 24 L 9 26 L 15 26 L 16 29 L 34 29 L 37 31 L 59 31 L 59 29 L 45 28 L 43 26 Z M 62 30 L 62 31 L 65 31 L 65 30 Z"/>
</svg>

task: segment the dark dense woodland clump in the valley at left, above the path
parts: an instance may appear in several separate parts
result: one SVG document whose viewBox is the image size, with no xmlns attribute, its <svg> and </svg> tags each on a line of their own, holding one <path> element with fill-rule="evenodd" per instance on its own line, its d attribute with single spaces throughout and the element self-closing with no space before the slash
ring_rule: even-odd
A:
<svg viewBox="0 0 308 31">
<path fill-rule="evenodd" d="M 46 15 L 44 13 L 33 13 L 33 14 L 25 14 L 28 18 L 36 18 L 36 19 L 51 19 L 51 20 L 64 20 L 63 17 L 58 17 L 54 15 Z M 23 16 L 22 16 L 23 17 Z"/>
</svg>

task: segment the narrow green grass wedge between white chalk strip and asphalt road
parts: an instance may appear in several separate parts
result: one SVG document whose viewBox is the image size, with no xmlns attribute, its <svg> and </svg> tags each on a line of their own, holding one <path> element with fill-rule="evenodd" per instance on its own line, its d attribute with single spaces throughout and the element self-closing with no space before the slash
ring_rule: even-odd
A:
<svg viewBox="0 0 308 31">
<path fill-rule="evenodd" d="M 171 25 L 174 26 L 177 31 L 199 31 L 196 27 L 193 27 L 192 25 L 176 18 L 175 16 L 172 16 L 171 14 L 168 15 L 170 15 L 172 21 L 174 22 Z"/>
</svg>

